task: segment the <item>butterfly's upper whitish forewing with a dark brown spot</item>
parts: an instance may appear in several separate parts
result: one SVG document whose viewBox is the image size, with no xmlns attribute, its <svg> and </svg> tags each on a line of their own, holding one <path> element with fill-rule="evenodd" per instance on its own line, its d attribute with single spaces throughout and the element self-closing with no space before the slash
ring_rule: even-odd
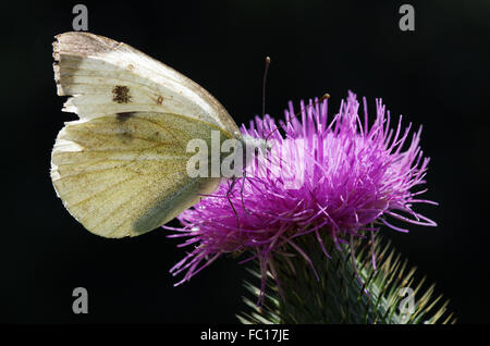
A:
<svg viewBox="0 0 490 346">
<path fill-rule="evenodd" d="M 56 36 L 58 95 L 79 119 L 150 111 L 201 120 L 240 137 L 233 119 L 203 87 L 125 44 L 90 33 Z"/>
</svg>

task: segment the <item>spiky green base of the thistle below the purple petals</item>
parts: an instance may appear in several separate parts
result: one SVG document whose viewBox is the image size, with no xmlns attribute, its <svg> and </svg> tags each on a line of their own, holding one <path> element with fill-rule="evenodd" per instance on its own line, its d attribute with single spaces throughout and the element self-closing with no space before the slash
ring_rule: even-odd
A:
<svg viewBox="0 0 490 346">
<path fill-rule="evenodd" d="M 256 305 L 260 286 L 247 282 L 245 285 L 255 299 L 244 297 L 248 310 L 238 314 L 238 319 L 243 323 L 455 322 L 452 313 L 446 316 L 449 301 L 440 305 L 442 296 L 432 298 L 434 285 L 422 294 L 425 279 L 416 283 L 415 268 L 408 270 L 407 261 L 402 261 L 390 244 L 381 246 L 379 236 L 373 246 L 357 238 L 352 239 L 351 246 L 341 245 L 340 249 L 329 238 L 323 243 L 330 259 L 315 237 L 303 236 L 296 240 L 311 259 L 319 280 L 302 256 L 278 256 L 273 265 L 284 299 L 271 273 L 268 273 L 261 306 Z M 260 277 L 259 270 L 252 272 Z"/>
</svg>

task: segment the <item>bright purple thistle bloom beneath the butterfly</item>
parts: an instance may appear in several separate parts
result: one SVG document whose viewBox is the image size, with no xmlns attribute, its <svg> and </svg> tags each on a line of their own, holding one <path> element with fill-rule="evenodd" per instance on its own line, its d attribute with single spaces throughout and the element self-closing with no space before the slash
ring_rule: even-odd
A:
<svg viewBox="0 0 490 346">
<path fill-rule="evenodd" d="M 179 217 L 182 228 L 166 227 L 179 232 L 170 237 L 187 237 L 180 247 L 193 247 L 171 269 L 173 275 L 185 272 L 177 284 L 222 254 L 248 250 L 250 256 L 241 263 L 258 259 L 264 293 L 267 271 L 277 276 L 274 256 L 296 252 L 313 267 L 308 254 L 295 243 L 298 236 L 313 235 L 330 257 L 322 240 L 326 235 L 340 248 L 354 236 L 373 236 L 381 224 L 408 232 L 389 219 L 434 226 L 412 210 L 413 203 L 437 205 L 417 199 L 426 189 L 412 191 L 425 183 L 429 162 L 419 147 L 421 127 L 411 135 L 411 125 L 403 129 L 400 116 L 391 129 L 390 112 L 381 99 L 376 100 L 376 119 L 369 127 L 363 101 L 359 116 L 359 102 L 350 92 L 330 123 L 327 100 L 302 102 L 297 116 L 290 102 L 285 122 L 280 122 L 285 136 L 269 115 L 256 116 L 248 128 L 243 125 L 244 135 L 270 139 L 272 151 L 268 158 L 253 160 L 232 190 L 232 182 L 223 180 L 212 196 L 184 211 Z"/>
</svg>

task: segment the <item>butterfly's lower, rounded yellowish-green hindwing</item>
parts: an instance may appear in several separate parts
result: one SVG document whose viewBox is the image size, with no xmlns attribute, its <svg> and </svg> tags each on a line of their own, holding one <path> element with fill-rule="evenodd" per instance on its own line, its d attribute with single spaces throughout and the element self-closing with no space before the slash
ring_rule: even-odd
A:
<svg viewBox="0 0 490 346">
<path fill-rule="evenodd" d="M 70 213 L 105 237 L 135 236 L 170 221 L 213 191 L 219 178 L 187 175 L 186 144 L 209 147 L 215 126 L 170 113 L 134 112 L 68 123 L 51 177 Z"/>
</svg>

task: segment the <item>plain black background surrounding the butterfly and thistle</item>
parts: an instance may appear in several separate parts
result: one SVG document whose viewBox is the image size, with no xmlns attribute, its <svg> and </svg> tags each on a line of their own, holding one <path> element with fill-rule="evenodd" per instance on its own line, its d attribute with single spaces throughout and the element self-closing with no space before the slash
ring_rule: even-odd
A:
<svg viewBox="0 0 490 346">
<path fill-rule="evenodd" d="M 0 322 L 236 322 L 244 265 L 223 258 L 189 283 L 168 270 L 184 256 L 166 231 L 111 240 L 86 232 L 56 197 L 50 151 L 64 121 L 51 42 L 72 29 L 76 2 L 2 9 L 2 237 Z M 428 199 L 418 211 L 438 227 L 384 230 L 411 263 L 451 298 L 460 322 L 489 322 L 488 1 L 411 1 L 416 30 L 401 32 L 401 1 L 84 2 L 89 32 L 124 41 L 189 76 L 241 124 L 289 100 L 348 89 L 370 110 L 382 97 L 393 114 L 424 124 L 432 158 Z M 7 207 L 7 208 L 5 208 Z M 72 312 L 72 291 L 89 313 Z"/>
</svg>

